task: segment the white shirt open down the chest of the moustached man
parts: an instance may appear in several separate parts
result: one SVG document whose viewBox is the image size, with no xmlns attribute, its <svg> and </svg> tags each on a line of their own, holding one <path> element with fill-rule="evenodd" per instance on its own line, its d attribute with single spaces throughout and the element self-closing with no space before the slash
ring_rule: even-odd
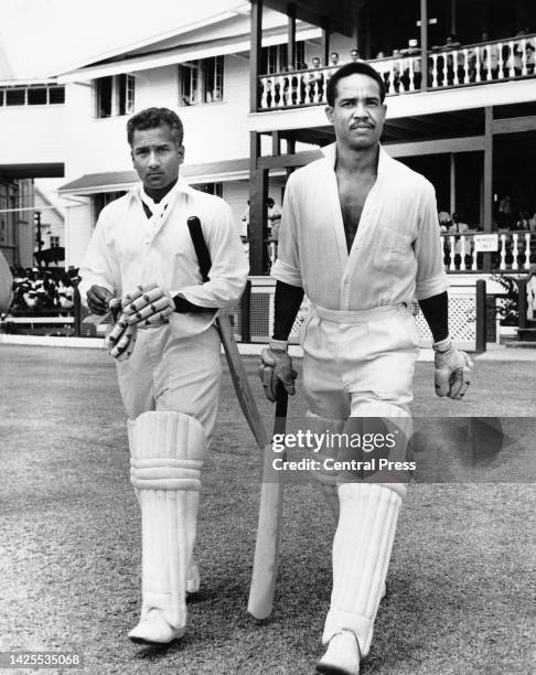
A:
<svg viewBox="0 0 536 675">
<path fill-rule="evenodd" d="M 285 191 L 271 276 L 320 307 L 367 310 L 447 290 L 431 183 L 379 149 L 350 254 L 335 175 L 335 143 L 292 173 Z"/>
</svg>

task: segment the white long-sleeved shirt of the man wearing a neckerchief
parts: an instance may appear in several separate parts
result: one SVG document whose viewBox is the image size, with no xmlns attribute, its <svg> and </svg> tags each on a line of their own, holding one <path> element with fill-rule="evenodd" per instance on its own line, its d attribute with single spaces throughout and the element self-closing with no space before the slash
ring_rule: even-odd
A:
<svg viewBox="0 0 536 675">
<path fill-rule="evenodd" d="M 81 266 L 83 302 L 93 285 L 121 298 L 138 283 L 151 281 L 201 307 L 218 309 L 237 302 L 249 265 L 229 206 L 179 179 L 169 214 L 157 221 L 147 217 L 140 190 L 141 184 L 101 211 Z M 199 216 L 211 254 L 206 283 L 186 225 L 190 216 Z M 210 313 L 174 312 L 170 323 L 174 335 L 187 336 L 206 330 L 213 320 Z"/>
</svg>

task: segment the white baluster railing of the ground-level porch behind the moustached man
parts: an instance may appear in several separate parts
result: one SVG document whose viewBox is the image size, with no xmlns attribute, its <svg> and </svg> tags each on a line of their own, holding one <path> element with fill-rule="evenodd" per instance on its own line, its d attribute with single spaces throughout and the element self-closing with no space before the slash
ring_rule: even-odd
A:
<svg viewBox="0 0 536 675">
<path fill-rule="evenodd" d="M 476 249 L 482 233 L 441 234 L 444 269 L 448 272 L 483 272 L 484 254 Z M 536 264 L 536 232 L 499 232 L 497 250 L 492 251 L 492 272 L 523 274 Z M 266 239 L 267 260 L 277 260 L 277 242 Z"/>
</svg>

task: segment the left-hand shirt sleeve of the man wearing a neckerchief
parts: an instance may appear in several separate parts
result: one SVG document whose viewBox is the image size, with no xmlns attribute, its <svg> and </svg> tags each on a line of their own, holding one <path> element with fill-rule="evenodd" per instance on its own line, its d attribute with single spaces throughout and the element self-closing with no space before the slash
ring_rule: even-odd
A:
<svg viewBox="0 0 536 675">
<path fill-rule="evenodd" d="M 106 211 L 103 211 L 89 239 L 84 259 L 81 265 L 78 285 L 82 303 L 87 307 L 87 291 L 92 286 L 101 286 L 116 294 L 116 279 L 114 275 L 114 259 L 110 247 L 106 243 Z"/>
</svg>

